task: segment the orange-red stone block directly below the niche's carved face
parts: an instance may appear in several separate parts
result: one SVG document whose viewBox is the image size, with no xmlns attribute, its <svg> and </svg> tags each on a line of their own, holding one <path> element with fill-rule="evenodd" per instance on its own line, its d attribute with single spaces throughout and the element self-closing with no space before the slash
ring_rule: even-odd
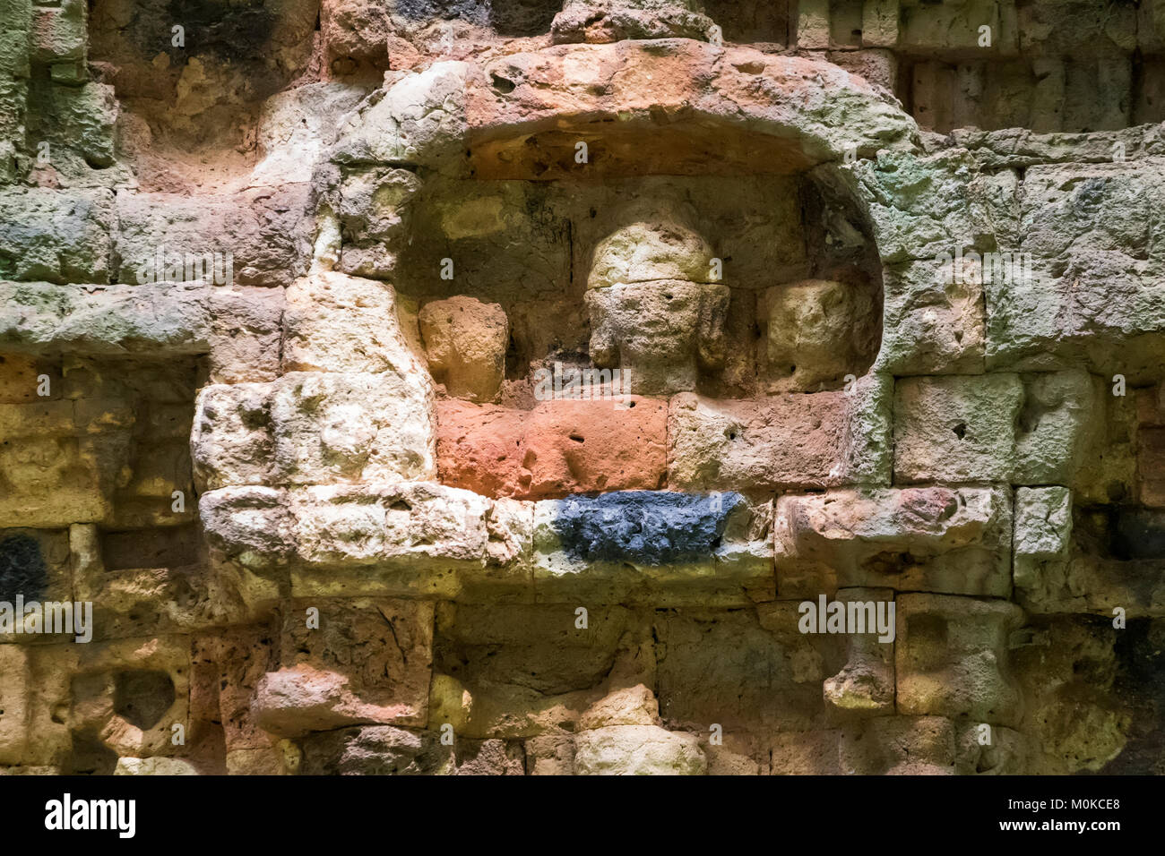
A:
<svg viewBox="0 0 1165 856">
<path fill-rule="evenodd" d="M 608 490 L 658 490 L 666 479 L 668 403 L 551 401 L 531 411 L 443 401 L 440 480 L 523 500 Z"/>
</svg>

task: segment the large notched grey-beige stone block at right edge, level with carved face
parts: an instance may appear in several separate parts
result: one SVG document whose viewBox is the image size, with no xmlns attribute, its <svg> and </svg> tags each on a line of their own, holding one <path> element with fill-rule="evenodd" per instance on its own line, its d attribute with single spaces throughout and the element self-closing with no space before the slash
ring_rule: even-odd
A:
<svg viewBox="0 0 1165 856">
<path fill-rule="evenodd" d="M 1030 275 L 987 283 L 988 368 L 1071 361 L 1130 383 L 1156 377 L 1165 280 L 1145 218 L 1160 204 L 1162 169 L 1146 158 L 1026 171 L 1018 203 Z"/>
</svg>

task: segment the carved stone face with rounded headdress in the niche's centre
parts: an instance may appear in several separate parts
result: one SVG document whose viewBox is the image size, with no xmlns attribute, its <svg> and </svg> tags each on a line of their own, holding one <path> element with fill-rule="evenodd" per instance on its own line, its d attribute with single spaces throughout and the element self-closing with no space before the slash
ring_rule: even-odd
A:
<svg viewBox="0 0 1165 856">
<path fill-rule="evenodd" d="M 713 273 L 707 241 L 666 214 L 616 229 L 587 280 L 591 359 L 627 373 L 633 392 L 694 390 L 698 369 L 725 360 L 729 292 Z"/>
</svg>

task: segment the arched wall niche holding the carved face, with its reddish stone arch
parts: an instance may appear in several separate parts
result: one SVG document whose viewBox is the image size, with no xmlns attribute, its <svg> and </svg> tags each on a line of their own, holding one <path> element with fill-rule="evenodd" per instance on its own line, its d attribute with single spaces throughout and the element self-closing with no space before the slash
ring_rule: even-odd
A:
<svg viewBox="0 0 1165 856">
<path fill-rule="evenodd" d="M 424 73 L 429 84 L 422 75 L 410 86 L 436 93 L 431 109 L 416 107 L 415 93 L 397 109 L 389 92 L 389 106 L 369 111 L 401 116 L 394 146 L 412 165 L 367 165 L 383 139 L 368 119 L 338 162 L 348 175 L 380 170 L 375 181 L 396 170 L 409 203 L 390 278 L 419 310 L 423 337 L 426 312 L 446 330 L 442 354 L 430 353 L 447 394 L 438 423 L 469 446 L 499 445 L 496 454 L 469 450 L 475 472 L 450 483 L 524 498 L 836 483 L 840 396 L 874 365 L 883 304 L 877 247 L 847 162 L 909 148 L 909 116 L 835 66 L 682 40 L 563 45 Z M 347 225 L 348 273 L 369 275 L 359 260 L 379 246 Z M 496 352 L 500 337 L 503 359 L 469 353 Z M 465 355 L 453 353 L 457 342 Z M 485 363 L 496 382 L 452 376 Z M 649 468 L 628 483 L 610 473 L 574 477 L 589 465 L 559 451 L 548 454 L 565 458 L 558 466 L 571 477 L 486 472 L 500 457 L 529 459 L 531 431 L 587 441 L 571 419 L 539 417 L 549 409 L 539 376 L 616 368 L 633 369 L 623 391 L 649 396 L 661 424 L 675 429 L 677 396 L 694 396 L 712 422 L 741 426 L 725 430 L 727 441 L 743 434 L 764 447 L 762 459 L 807 443 L 812 461 L 793 455 L 788 472 L 756 479 L 712 460 L 686 474 L 664 464 L 666 472 Z M 571 394 L 556 377 L 549 397 Z M 525 424 L 538 418 L 550 424 Z"/>
</svg>

